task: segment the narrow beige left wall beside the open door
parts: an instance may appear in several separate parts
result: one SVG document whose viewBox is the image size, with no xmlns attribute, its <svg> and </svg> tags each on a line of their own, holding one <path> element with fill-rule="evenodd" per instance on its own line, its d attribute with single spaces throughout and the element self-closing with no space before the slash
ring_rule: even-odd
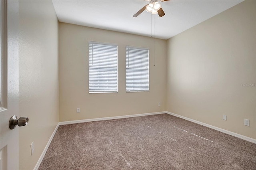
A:
<svg viewBox="0 0 256 170">
<path fill-rule="evenodd" d="M 58 19 L 52 1 L 19 1 L 19 169 L 34 169 L 59 121 Z M 34 154 L 30 144 L 34 141 Z"/>
</svg>

